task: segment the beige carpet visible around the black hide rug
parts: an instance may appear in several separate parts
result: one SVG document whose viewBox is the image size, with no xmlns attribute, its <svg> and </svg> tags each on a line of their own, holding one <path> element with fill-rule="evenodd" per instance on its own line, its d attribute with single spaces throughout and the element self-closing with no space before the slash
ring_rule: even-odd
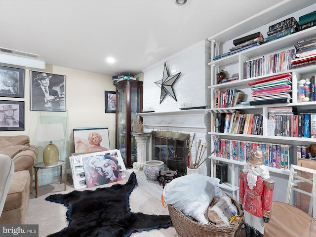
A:
<svg viewBox="0 0 316 237">
<path fill-rule="evenodd" d="M 35 198 L 35 190 L 32 187 L 30 194 L 30 205 L 26 216 L 25 224 L 38 224 L 39 237 L 46 237 L 56 233 L 68 226 L 66 220 L 67 207 L 60 203 L 46 201 L 45 197 L 51 194 L 69 193 L 74 190 L 71 177 L 68 179 L 67 191 L 64 191 L 63 184 L 50 184 L 39 187 L 39 198 Z M 118 183 L 127 182 L 125 178 Z M 102 185 L 107 187 L 111 185 Z M 93 190 L 95 188 L 90 188 Z M 141 188 L 136 186 L 130 195 L 130 208 L 132 212 L 142 212 L 145 214 L 168 215 L 168 209 L 164 208 L 159 200 L 152 197 Z M 167 229 L 151 230 L 150 232 L 133 233 L 131 237 L 180 237 L 173 227 Z"/>
</svg>

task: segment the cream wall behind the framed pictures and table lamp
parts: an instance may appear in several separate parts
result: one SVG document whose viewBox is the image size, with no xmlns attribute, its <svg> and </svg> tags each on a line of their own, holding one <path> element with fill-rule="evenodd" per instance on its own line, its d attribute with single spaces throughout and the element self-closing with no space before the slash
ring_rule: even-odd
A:
<svg viewBox="0 0 316 237">
<path fill-rule="evenodd" d="M 39 70 L 34 70 L 39 71 Z M 60 159 L 65 159 L 68 170 L 70 169 L 68 157 L 74 152 L 72 129 L 75 127 L 108 127 L 110 147 L 115 149 L 115 113 L 105 113 L 104 91 L 115 91 L 112 76 L 84 72 L 69 68 L 46 65 L 43 72 L 66 76 L 66 110 L 67 112 L 37 112 L 30 111 L 30 70 L 25 70 L 25 98 L 1 97 L 1 100 L 24 101 L 25 105 L 25 130 L 24 131 L 1 131 L 1 136 L 28 135 L 31 145 L 39 145 L 39 155 L 36 162 L 42 161 L 42 149 L 44 143 L 35 141 L 35 131 L 38 119 L 41 115 L 52 118 L 64 117 L 68 114 L 68 126 L 64 146 L 59 147 Z M 58 170 L 56 170 L 57 172 Z M 48 169 L 40 171 L 54 173 Z M 58 173 L 58 172 L 57 172 Z M 56 173 L 56 174 L 57 174 Z M 57 174 L 58 176 L 58 174 Z M 48 181 L 47 181 L 48 182 Z"/>
</svg>

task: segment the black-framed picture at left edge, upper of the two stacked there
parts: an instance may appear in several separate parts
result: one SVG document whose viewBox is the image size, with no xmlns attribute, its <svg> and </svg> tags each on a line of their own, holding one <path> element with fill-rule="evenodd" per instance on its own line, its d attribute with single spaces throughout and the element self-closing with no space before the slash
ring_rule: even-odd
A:
<svg viewBox="0 0 316 237">
<path fill-rule="evenodd" d="M 24 69 L 0 66 L 0 96 L 24 98 Z"/>
</svg>

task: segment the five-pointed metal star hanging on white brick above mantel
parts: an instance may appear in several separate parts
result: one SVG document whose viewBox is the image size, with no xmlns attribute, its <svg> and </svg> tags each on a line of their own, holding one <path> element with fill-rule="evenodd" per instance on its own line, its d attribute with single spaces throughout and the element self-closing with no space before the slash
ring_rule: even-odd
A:
<svg viewBox="0 0 316 237">
<path fill-rule="evenodd" d="M 170 76 L 167 65 L 164 63 L 164 69 L 163 69 L 163 76 L 162 80 L 155 81 L 155 83 L 161 87 L 161 93 L 160 93 L 160 103 L 163 101 L 163 99 L 169 95 L 171 98 L 173 98 L 175 101 L 177 101 L 177 97 L 173 90 L 173 85 L 176 82 L 176 80 L 179 78 L 181 72 L 177 73 L 175 75 Z"/>
</svg>

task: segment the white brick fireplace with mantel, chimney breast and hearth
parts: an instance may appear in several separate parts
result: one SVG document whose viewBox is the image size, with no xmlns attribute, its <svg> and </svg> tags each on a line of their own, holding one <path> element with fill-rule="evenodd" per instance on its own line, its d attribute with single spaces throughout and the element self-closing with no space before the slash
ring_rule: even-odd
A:
<svg viewBox="0 0 316 237">
<path fill-rule="evenodd" d="M 205 144 L 210 136 L 210 114 L 206 109 L 180 110 L 188 107 L 210 107 L 210 60 L 211 44 L 208 40 L 202 40 L 158 63 L 143 70 L 143 111 L 155 111 L 152 113 L 139 114 L 145 125 L 144 132 L 170 131 L 189 133 L 191 140 L 195 135 L 195 141 L 201 139 Z M 169 75 L 181 72 L 180 77 L 174 84 L 174 93 L 177 101 L 170 96 L 160 103 L 161 88 L 155 83 L 162 79 L 164 63 Z M 152 144 L 148 146 L 147 160 L 152 158 Z M 192 152 L 195 153 L 195 145 Z M 207 147 L 205 156 L 210 153 L 211 147 Z M 207 159 L 200 167 L 199 173 L 210 173 L 210 160 Z M 127 170 L 131 172 L 134 169 Z M 137 170 L 136 170 L 137 171 Z M 158 181 L 147 182 L 143 171 L 136 172 L 138 185 L 153 197 L 160 199 L 162 186 Z"/>
</svg>

